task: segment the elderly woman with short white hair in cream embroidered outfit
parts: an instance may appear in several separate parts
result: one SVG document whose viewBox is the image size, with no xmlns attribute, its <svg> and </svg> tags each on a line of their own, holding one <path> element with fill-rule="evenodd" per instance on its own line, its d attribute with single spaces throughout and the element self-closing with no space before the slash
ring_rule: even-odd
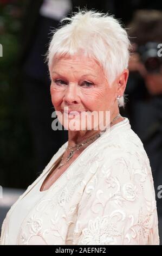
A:
<svg viewBox="0 0 162 256">
<path fill-rule="evenodd" d="M 159 245 L 150 162 L 119 113 L 128 35 L 109 14 L 81 10 L 64 20 L 47 60 L 68 141 L 9 210 L 1 244 Z"/>
</svg>

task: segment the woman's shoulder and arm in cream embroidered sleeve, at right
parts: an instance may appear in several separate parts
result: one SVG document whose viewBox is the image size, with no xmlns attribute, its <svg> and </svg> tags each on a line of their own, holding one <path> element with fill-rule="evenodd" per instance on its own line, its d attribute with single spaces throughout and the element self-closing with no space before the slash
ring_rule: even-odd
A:
<svg viewBox="0 0 162 256">
<path fill-rule="evenodd" d="M 159 244 L 151 167 L 139 137 L 132 129 L 114 131 L 98 144 L 93 156 L 97 169 L 79 204 L 83 239 L 92 227 L 98 227 L 99 235 L 110 234 L 111 225 L 116 245 Z"/>
</svg>

